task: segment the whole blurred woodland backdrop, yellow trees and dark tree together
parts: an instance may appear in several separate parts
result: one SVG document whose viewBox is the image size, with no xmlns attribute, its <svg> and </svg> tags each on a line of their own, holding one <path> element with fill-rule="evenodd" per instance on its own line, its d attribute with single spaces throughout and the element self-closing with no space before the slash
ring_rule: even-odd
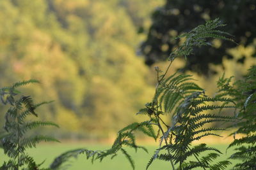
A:
<svg viewBox="0 0 256 170">
<path fill-rule="evenodd" d="M 236 43 L 214 39 L 170 71 L 193 73 L 213 95 L 215 82 L 241 78 L 256 64 L 256 1 L 1 0 L 0 87 L 36 79 L 22 89 L 36 102 L 41 120 L 60 125 L 42 131 L 58 139 L 111 140 L 118 129 L 142 120 L 150 102 L 154 66 L 179 45 L 175 36 L 219 17 Z M 0 126 L 4 108 L 0 106 Z M 42 132 L 41 131 L 41 132 Z"/>
</svg>

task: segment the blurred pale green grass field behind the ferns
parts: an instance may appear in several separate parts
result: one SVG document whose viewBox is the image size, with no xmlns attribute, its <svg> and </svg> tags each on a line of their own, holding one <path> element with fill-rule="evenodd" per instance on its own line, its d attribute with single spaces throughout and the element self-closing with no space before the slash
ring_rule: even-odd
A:
<svg viewBox="0 0 256 170">
<path fill-rule="evenodd" d="M 212 145 L 219 150 L 223 152 L 223 155 L 219 157 L 220 160 L 225 160 L 226 157 L 230 155 L 230 152 L 232 150 L 228 150 L 227 155 L 225 153 L 227 145 Z M 37 148 L 33 148 L 29 150 L 29 154 L 33 156 L 37 163 L 44 162 L 42 167 L 48 167 L 52 160 L 54 160 L 55 157 L 60 155 L 63 152 L 66 152 L 67 150 L 72 150 L 75 148 L 88 148 L 90 150 L 104 150 L 108 148 L 109 145 L 88 145 L 88 144 L 74 144 L 74 143 L 52 143 L 52 144 L 42 144 L 38 145 Z M 150 146 L 148 145 L 146 147 L 148 149 L 149 153 L 144 152 L 143 150 L 138 150 L 137 153 L 134 152 L 134 150 L 127 148 L 127 151 L 131 153 L 134 161 L 135 161 L 135 169 L 141 170 L 145 169 L 148 160 L 154 154 L 154 150 L 157 148 L 157 146 Z M 3 163 L 4 160 L 6 160 L 6 157 L 3 154 L 3 150 L 0 150 L 0 164 Z M 90 160 L 87 160 L 85 155 L 80 155 L 77 159 L 72 159 L 70 162 L 70 167 L 67 168 L 67 170 L 101 170 L 101 169 L 122 169 L 122 170 L 131 170 L 132 167 L 129 164 L 129 162 L 125 159 L 124 155 L 119 154 L 114 159 L 106 158 L 102 160 L 102 162 L 96 161 L 92 164 Z M 163 162 L 161 160 L 156 160 L 152 163 L 152 165 L 149 168 L 150 170 L 158 170 L 158 169 L 171 169 L 170 164 L 168 162 Z"/>
</svg>

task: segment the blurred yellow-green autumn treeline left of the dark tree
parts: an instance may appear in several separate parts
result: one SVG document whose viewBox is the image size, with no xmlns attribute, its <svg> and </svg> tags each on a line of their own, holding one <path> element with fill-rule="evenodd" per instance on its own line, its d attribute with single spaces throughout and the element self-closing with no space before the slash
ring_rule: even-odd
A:
<svg viewBox="0 0 256 170">
<path fill-rule="evenodd" d="M 136 121 L 154 93 L 154 76 L 136 49 L 144 39 L 138 29 L 161 3 L 1 0 L 0 86 L 39 80 L 23 92 L 54 100 L 38 113 L 60 125 L 58 137 L 108 137 Z"/>
</svg>

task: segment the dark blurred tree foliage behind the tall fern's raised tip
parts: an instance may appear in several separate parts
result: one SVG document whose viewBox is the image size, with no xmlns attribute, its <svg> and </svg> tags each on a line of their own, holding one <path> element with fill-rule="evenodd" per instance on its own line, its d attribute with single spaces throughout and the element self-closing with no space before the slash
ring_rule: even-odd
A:
<svg viewBox="0 0 256 170">
<path fill-rule="evenodd" d="M 175 41 L 175 36 L 214 18 L 220 18 L 227 24 L 225 31 L 234 35 L 237 43 L 244 46 L 252 45 L 256 37 L 255 8 L 255 0 L 166 0 L 164 6 L 154 11 L 147 40 L 141 45 L 145 63 L 150 66 L 154 62 L 167 59 L 179 43 Z M 214 47 L 200 48 L 200 51 L 196 50 L 195 55 L 189 56 L 184 68 L 207 74 L 210 63 L 221 64 L 224 55 L 232 58 L 225 49 L 236 44 L 221 44 L 221 41 L 215 40 L 212 43 Z M 237 62 L 243 61 L 244 56 L 237 59 Z"/>
</svg>

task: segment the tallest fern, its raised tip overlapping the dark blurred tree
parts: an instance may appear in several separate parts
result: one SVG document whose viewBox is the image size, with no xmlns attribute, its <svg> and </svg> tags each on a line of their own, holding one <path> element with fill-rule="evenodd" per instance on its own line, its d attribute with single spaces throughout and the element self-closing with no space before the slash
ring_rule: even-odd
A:
<svg viewBox="0 0 256 170">
<path fill-rule="evenodd" d="M 145 104 L 145 108 L 137 113 L 137 115 L 147 115 L 148 120 L 141 123 L 134 122 L 121 129 L 112 148 L 109 150 L 104 152 L 86 150 L 86 158 L 92 157 L 92 160 L 102 160 L 110 155 L 115 157 L 118 152 L 121 152 L 130 162 L 132 169 L 134 169 L 134 160 L 126 152 L 124 146 L 134 148 L 135 151 L 138 148 L 145 150 L 142 146 L 136 145 L 135 132 L 141 131 L 155 140 L 159 139 L 159 148 L 149 160 L 146 169 L 155 159 L 170 162 L 172 169 L 227 168 L 230 164 L 228 160 L 214 162 L 214 159 L 221 154 L 220 150 L 209 147 L 205 143 L 196 146 L 191 146 L 191 144 L 193 141 L 200 140 L 205 136 L 220 136 L 215 131 L 226 130 L 225 128 L 205 125 L 214 122 L 234 121 L 233 117 L 216 114 L 226 108 L 236 108 L 232 98 L 227 93 L 216 97 L 206 96 L 204 90 L 196 85 L 193 78 L 187 74 L 175 73 L 166 77 L 174 59 L 180 55 L 189 56 L 195 47 L 209 45 L 207 43 L 208 38 L 230 40 L 225 37 L 225 35 L 229 34 L 218 31 L 218 28 L 222 26 L 223 24 L 216 19 L 206 22 L 205 25 L 199 25 L 192 31 L 180 36 L 185 41 L 170 54 L 170 65 L 166 71 L 161 74 L 162 71 L 156 67 L 157 87 L 152 102 Z M 166 115 L 172 117 L 171 122 L 164 121 L 163 117 L 166 117 Z M 208 151 L 211 151 L 211 153 L 202 156 L 202 153 Z M 77 154 L 77 150 L 74 153 Z M 65 153 L 60 157 L 65 157 Z M 194 157 L 195 160 L 188 161 L 189 157 Z M 58 163 L 57 159 L 56 161 Z M 55 163 L 53 162 L 52 164 Z"/>
</svg>

